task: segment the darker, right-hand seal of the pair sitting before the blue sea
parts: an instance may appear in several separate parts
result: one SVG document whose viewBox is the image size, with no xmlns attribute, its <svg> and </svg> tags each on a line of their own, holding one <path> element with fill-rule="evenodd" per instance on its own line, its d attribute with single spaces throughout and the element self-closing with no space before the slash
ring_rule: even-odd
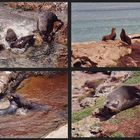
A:
<svg viewBox="0 0 140 140">
<path fill-rule="evenodd" d="M 127 43 L 128 45 L 131 45 L 131 39 L 128 35 L 126 35 L 126 32 L 123 28 L 122 28 L 122 31 L 120 33 L 120 38 L 123 42 Z"/>
</svg>

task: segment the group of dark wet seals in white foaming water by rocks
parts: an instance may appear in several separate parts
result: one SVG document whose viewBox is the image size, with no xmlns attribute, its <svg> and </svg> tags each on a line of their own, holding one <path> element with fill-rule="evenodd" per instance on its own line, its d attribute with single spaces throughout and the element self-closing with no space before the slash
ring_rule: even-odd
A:
<svg viewBox="0 0 140 140">
<path fill-rule="evenodd" d="M 58 19 L 53 12 L 42 12 L 37 20 L 37 32 L 39 32 L 43 41 L 51 43 L 54 40 L 55 33 L 61 29 L 63 24 L 64 23 Z M 11 28 L 7 30 L 5 37 L 5 40 L 8 42 L 10 48 L 24 48 L 26 46 L 33 46 L 35 39 L 34 34 L 18 39 L 16 33 Z"/>
</svg>

